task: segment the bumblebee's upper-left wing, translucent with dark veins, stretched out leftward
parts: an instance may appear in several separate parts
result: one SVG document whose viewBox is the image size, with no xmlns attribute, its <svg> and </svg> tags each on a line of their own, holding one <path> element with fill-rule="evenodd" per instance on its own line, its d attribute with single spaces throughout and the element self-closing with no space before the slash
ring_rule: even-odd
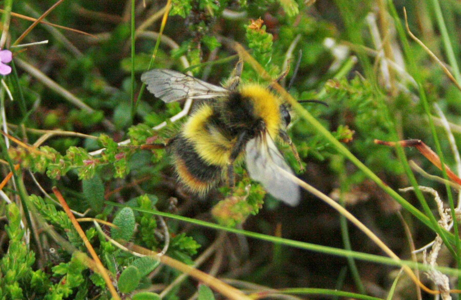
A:
<svg viewBox="0 0 461 300">
<path fill-rule="evenodd" d="M 147 84 L 148 91 L 167 103 L 185 98 L 208 99 L 229 93 L 223 87 L 167 69 L 145 72 L 141 75 L 141 80 Z"/>
</svg>

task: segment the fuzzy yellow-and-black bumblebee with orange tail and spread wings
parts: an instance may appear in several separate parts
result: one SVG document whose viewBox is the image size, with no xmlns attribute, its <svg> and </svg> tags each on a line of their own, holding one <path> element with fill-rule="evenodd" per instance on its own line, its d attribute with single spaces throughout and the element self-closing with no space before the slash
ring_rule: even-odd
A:
<svg viewBox="0 0 461 300">
<path fill-rule="evenodd" d="M 301 164 L 286 132 L 291 121 L 288 104 L 271 85 L 241 83 L 242 67 L 240 60 L 223 86 L 167 69 L 145 72 L 141 80 L 167 103 L 207 99 L 166 144 L 179 181 L 191 192 L 204 196 L 225 177 L 233 187 L 234 163 L 244 156 L 250 177 L 275 198 L 294 206 L 299 202 L 299 187 L 280 170 L 293 174 L 274 142 L 289 144 Z"/>
</svg>

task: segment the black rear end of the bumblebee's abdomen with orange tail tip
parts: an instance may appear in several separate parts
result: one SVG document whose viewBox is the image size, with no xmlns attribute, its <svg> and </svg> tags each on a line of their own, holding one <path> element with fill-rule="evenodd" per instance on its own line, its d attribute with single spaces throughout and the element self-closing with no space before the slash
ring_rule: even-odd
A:
<svg viewBox="0 0 461 300">
<path fill-rule="evenodd" d="M 168 144 L 179 180 L 191 191 L 204 196 L 221 179 L 222 168 L 205 162 L 197 153 L 194 143 L 178 134 Z"/>
</svg>

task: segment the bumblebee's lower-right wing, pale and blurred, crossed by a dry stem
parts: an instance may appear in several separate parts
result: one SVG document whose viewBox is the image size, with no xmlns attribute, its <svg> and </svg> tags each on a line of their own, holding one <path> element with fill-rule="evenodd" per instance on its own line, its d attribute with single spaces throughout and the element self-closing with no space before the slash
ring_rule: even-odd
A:
<svg viewBox="0 0 461 300">
<path fill-rule="evenodd" d="M 269 133 L 266 132 L 248 141 L 245 161 L 250 177 L 260 181 L 272 196 L 291 206 L 299 203 L 298 185 L 279 168 L 290 174 L 293 174 L 293 171 L 278 151 Z"/>
</svg>

